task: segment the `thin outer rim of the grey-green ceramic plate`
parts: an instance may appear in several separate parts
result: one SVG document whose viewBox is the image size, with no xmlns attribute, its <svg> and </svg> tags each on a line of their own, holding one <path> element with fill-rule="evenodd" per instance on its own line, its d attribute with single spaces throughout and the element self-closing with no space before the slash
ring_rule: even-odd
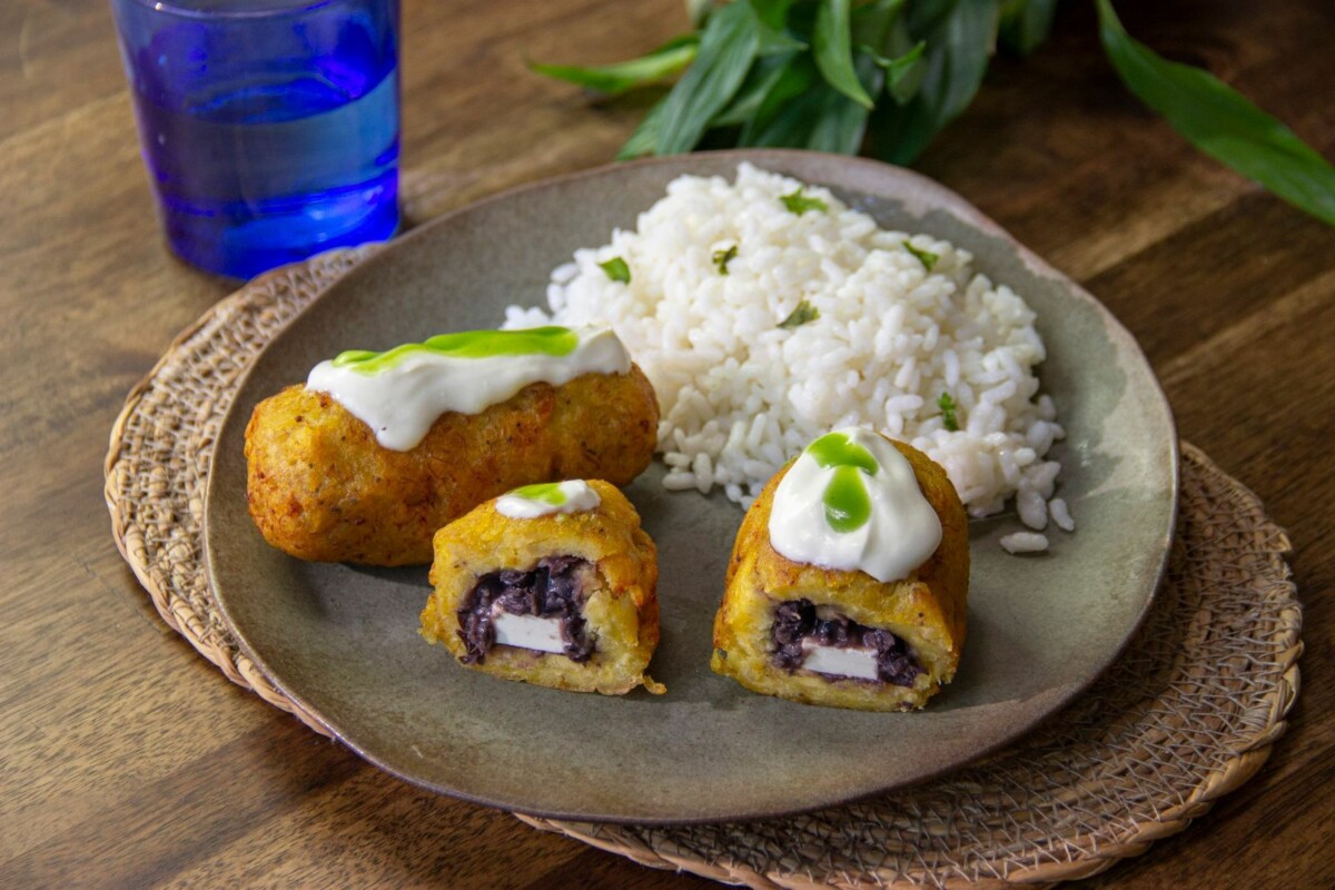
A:
<svg viewBox="0 0 1335 890">
<path fill-rule="evenodd" d="M 320 726 L 323 726 L 332 738 L 336 738 L 342 745 L 351 749 L 362 759 L 372 763 L 376 769 L 380 769 L 388 773 L 390 775 L 394 775 L 395 778 L 407 782 L 409 785 L 413 785 L 415 787 L 421 787 L 423 790 L 442 794 L 454 799 L 482 805 L 490 809 L 499 809 L 511 813 L 522 813 L 525 815 L 531 815 L 538 818 L 566 819 L 566 821 L 593 822 L 593 823 L 603 822 L 603 823 L 619 823 L 619 825 L 661 825 L 661 826 L 705 825 L 705 823 L 718 823 L 730 821 L 784 818 L 802 813 L 810 813 L 824 807 L 845 806 L 878 794 L 885 794 L 898 789 L 912 787 L 936 781 L 943 775 L 957 771 L 960 769 L 965 769 L 968 765 L 977 762 L 979 759 L 983 759 L 985 757 L 989 757 L 996 751 L 1015 743 L 1017 739 L 1024 738 L 1025 735 L 1033 733 L 1040 725 L 1043 725 L 1053 715 L 1068 707 L 1072 702 L 1075 702 L 1095 682 L 1097 682 L 1100 677 L 1103 677 L 1108 671 L 1108 669 L 1123 655 L 1123 652 L 1125 652 L 1127 647 L 1131 644 L 1131 640 L 1144 623 L 1145 616 L 1148 615 L 1149 610 L 1156 602 L 1159 596 L 1159 590 L 1163 586 L 1163 578 L 1171 555 L 1172 543 L 1176 538 L 1176 524 L 1180 508 L 1181 444 L 1180 444 L 1180 438 L 1177 435 L 1176 418 L 1173 415 L 1172 406 L 1168 402 L 1165 392 L 1163 391 L 1163 384 L 1160 383 L 1157 375 L 1153 372 L 1153 367 L 1151 366 L 1148 356 L 1145 356 L 1144 351 L 1140 348 L 1140 344 L 1125 328 L 1125 326 L 1121 324 L 1121 322 L 1096 296 L 1093 296 L 1089 291 L 1087 291 L 1079 282 L 1075 282 L 1069 276 L 1064 275 L 1063 272 L 1052 267 L 1041 256 L 1039 256 L 1028 247 L 1025 247 L 1023 243 L 1020 243 L 1017 239 L 1015 239 L 1009 232 L 1001 228 L 991 217 L 984 215 L 979 208 L 976 208 L 973 204 L 965 200 L 961 195 L 916 171 L 868 157 L 833 155 L 828 152 L 814 152 L 804 149 L 784 149 L 784 148 L 726 149 L 726 151 L 712 151 L 704 155 L 712 159 L 729 159 L 733 161 L 734 167 L 738 163 L 749 161 L 764 168 L 765 159 L 773 159 L 774 161 L 778 163 L 793 161 L 797 165 L 805 163 L 824 161 L 826 164 L 833 163 L 841 167 L 858 168 L 868 176 L 889 175 L 889 176 L 904 177 L 905 180 L 910 181 L 916 188 L 921 189 L 926 195 L 936 199 L 934 204 L 925 205 L 926 209 L 932 209 L 933 207 L 943 208 L 952 216 L 957 217 L 960 221 L 980 230 L 983 234 L 1007 242 L 1016 252 L 1017 259 L 1033 274 L 1041 278 L 1049 278 L 1060 282 L 1063 287 L 1068 290 L 1073 296 L 1087 303 L 1099 315 L 1100 320 L 1103 322 L 1104 331 L 1107 331 L 1109 338 L 1113 339 L 1117 343 L 1117 346 L 1121 347 L 1129 356 L 1139 359 L 1140 364 L 1143 366 L 1143 370 L 1145 371 L 1144 376 L 1148 384 L 1148 388 L 1144 390 L 1144 394 L 1152 398 L 1155 407 L 1159 410 L 1161 419 L 1165 422 L 1165 436 L 1167 436 L 1168 456 L 1169 456 L 1169 466 L 1165 467 L 1168 490 L 1169 490 L 1168 528 L 1167 528 L 1167 535 L 1163 539 L 1161 546 L 1159 548 L 1157 559 L 1155 559 L 1152 564 L 1155 580 L 1149 594 L 1144 596 L 1139 611 L 1136 612 L 1133 620 L 1129 622 L 1127 632 L 1124 634 L 1121 640 L 1116 646 L 1109 647 L 1103 659 L 1096 659 L 1096 662 L 1093 662 L 1092 670 L 1084 679 L 1081 679 L 1081 682 L 1056 687 L 1056 694 L 1048 697 L 1049 698 L 1048 703 L 1037 717 L 1035 717 L 1028 723 L 1016 727 L 1013 731 L 992 739 L 987 745 L 972 749 L 968 757 L 945 763 L 939 769 L 932 769 L 920 773 L 918 775 L 916 775 L 909 781 L 898 781 L 889 785 L 881 785 L 873 789 L 860 790 L 853 794 L 833 794 L 817 802 L 797 803 L 792 807 L 765 807 L 762 810 L 732 809 L 724 814 L 706 814 L 706 815 L 629 817 L 629 815 L 617 815 L 617 814 L 609 815 L 609 814 L 597 814 L 597 813 L 574 811 L 574 810 L 567 811 L 567 810 L 553 810 L 543 807 L 529 807 L 513 802 L 499 802 L 495 799 L 489 799 L 487 797 L 473 794 L 454 787 L 441 786 L 431 781 L 413 775 L 411 773 L 406 773 L 403 770 L 396 769 L 395 766 L 380 759 L 372 750 L 368 750 L 366 746 L 362 746 L 356 743 L 354 739 L 350 739 L 338 726 L 331 725 L 330 721 L 324 717 L 324 714 L 322 714 L 319 709 L 315 709 L 304 695 L 302 695 L 296 690 L 290 689 L 286 682 L 280 681 L 275 675 L 272 667 L 270 666 L 270 662 L 264 659 L 260 655 L 260 652 L 255 650 L 250 639 L 238 628 L 232 611 L 227 606 L 226 596 L 218 595 L 218 583 L 215 571 L 215 547 L 214 547 L 214 534 L 212 534 L 214 511 L 210 508 L 210 504 L 214 503 L 215 499 L 215 478 L 216 478 L 215 470 L 219 464 L 219 460 L 215 456 L 214 459 L 210 460 L 200 527 L 202 527 L 202 542 L 203 542 L 203 556 L 204 556 L 203 563 L 206 568 L 206 578 L 208 582 L 210 595 L 218 604 L 219 614 L 223 618 L 227 630 L 231 631 L 239 648 L 246 654 L 247 658 L 251 659 L 255 667 L 264 674 L 268 682 L 279 693 L 282 693 L 286 698 L 291 699 L 295 705 L 298 705 L 302 709 L 304 714 L 308 714 Z M 259 364 L 262 363 L 264 356 L 270 352 L 270 350 L 276 351 L 278 348 L 282 348 L 283 340 L 290 335 L 290 332 L 295 327 L 298 327 L 296 326 L 298 319 L 303 318 L 307 312 L 312 311 L 322 300 L 324 300 L 328 296 L 330 291 L 342 286 L 342 283 L 346 279 L 355 278 L 358 275 L 374 274 L 374 270 L 378 268 L 379 266 L 386 266 L 392 263 L 394 254 L 398 250 L 400 250 L 400 246 L 411 244 L 415 240 L 421 240 L 431 230 L 445 226 L 449 223 L 449 220 L 453 220 L 458 216 L 475 212 L 479 208 L 489 207 L 495 203 L 521 197 L 527 192 L 557 188 L 586 179 L 599 179 L 611 172 L 626 171 L 633 168 L 676 167 L 676 165 L 689 167 L 692 161 L 698 160 L 700 156 L 701 153 L 642 157 L 631 161 L 601 164 L 586 169 L 573 171 L 558 176 L 543 177 L 517 184 L 505 188 L 499 192 L 495 192 L 493 195 L 483 196 L 478 200 L 469 201 L 458 208 L 442 213 L 441 216 L 433 217 L 431 220 L 427 220 L 421 226 L 414 227 L 411 231 L 406 232 L 405 235 L 400 235 L 399 238 L 395 238 L 391 242 L 378 246 L 378 248 L 374 252 L 371 252 L 366 259 L 342 271 L 335 278 L 330 279 L 323 287 L 320 287 L 316 291 L 316 294 L 310 299 L 310 302 L 306 303 L 306 306 L 303 306 L 298 312 L 295 312 L 283 324 L 283 327 L 279 331 L 276 331 L 274 336 L 271 336 L 263 344 L 263 347 L 251 356 L 251 360 L 244 368 L 244 371 L 239 374 L 235 379 L 234 400 L 227 407 L 227 412 L 219 424 L 215 442 L 220 444 L 222 440 L 224 439 L 224 432 L 227 431 L 227 428 L 240 423 L 240 420 L 238 419 L 239 412 L 236 411 L 239 400 L 236 400 L 235 396 L 239 395 L 242 390 L 246 387 L 246 384 L 251 378 L 252 371 L 256 367 L 259 367 Z M 689 169 L 682 169 L 678 175 L 686 175 L 689 172 L 690 172 Z M 785 175 L 801 177 L 800 175 L 794 173 L 785 173 Z M 812 181 L 814 181 L 814 184 L 822 184 L 822 185 L 826 184 L 818 180 L 812 180 Z M 858 191 L 856 188 L 846 185 L 834 185 L 834 187 L 844 188 L 848 191 Z M 913 211 L 912 201 L 905 201 L 905 207 L 910 212 Z M 280 267 L 278 270 L 267 272 L 266 276 L 282 274 L 282 271 L 283 268 Z"/>
</svg>

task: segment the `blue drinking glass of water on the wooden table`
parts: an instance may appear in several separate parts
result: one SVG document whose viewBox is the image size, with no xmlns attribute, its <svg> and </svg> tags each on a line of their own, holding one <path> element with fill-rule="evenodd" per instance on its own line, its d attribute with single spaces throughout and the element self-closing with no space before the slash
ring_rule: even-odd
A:
<svg viewBox="0 0 1335 890">
<path fill-rule="evenodd" d="M 250 278 L 399 227 L 399 0 L 111 0 L 163 230 Z"/>
</svg>

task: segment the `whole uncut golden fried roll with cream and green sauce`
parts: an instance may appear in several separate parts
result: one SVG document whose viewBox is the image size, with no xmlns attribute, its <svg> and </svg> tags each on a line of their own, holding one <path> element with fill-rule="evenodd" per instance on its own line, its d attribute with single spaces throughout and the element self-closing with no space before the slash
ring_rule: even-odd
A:
<svg viewBox="0 0 1335 890">
<path fill-rule="evenodd" d="M 615 334 L 446 334 L 343 352 L 246 428 L 250 514 L 300 559 L 431 562 L 438 528 L 515 486 L 626 484 L 653 459 L 658 403 Z"/>
</svg>

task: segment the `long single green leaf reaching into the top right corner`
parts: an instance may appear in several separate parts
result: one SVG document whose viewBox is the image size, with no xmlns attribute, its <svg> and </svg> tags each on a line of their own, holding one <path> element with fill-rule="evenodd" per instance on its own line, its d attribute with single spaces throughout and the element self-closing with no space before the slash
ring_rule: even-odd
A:
<svg viewBox="0 0 1335 890">
<path fill-rule="evenodd" d="M 1099 0 L 1099 36 L 1123 83 L 1196 148 L 1335 226 L 1335 168 L 1208 71 L 1168 61 L 1131 37 Z"/>
</svg>

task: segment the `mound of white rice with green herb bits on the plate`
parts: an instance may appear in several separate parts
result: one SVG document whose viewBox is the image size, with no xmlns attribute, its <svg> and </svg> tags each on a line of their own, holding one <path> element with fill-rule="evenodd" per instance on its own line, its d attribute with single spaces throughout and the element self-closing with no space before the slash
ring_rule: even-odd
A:
<svg viewBox="0 0 1335 890">
<path fill-rule="evenodd" d="M 828 211 L 788 209 L 781 197 L 798 187 Z M 905 242 L 939 255 L 930 272 Z M 734 246 L 722 275 L 714 255 Z M 629 284 L 598 266 L 613 258 Z M 749 506 L 812 439 L 869 426 L 944 466 L 972 515 L 1019 494 L 1023 520 L 1041 530 L 1060 471 L 1044 456 L 1064 435 L 1033 374 L 1043 340 L 1025 302 L 972 259 L 741 164 L 734 184 L 670 183 L 635 231 L 551 274 L 549 310 L 510 307 L 505 327 L 611 326 L 658 392 L 668 488 L 721 486 Z M 820 318 L 780 328 L 802 300 Z M 956 431 L 943 394 L 959 406 Z"/>
</svg>

